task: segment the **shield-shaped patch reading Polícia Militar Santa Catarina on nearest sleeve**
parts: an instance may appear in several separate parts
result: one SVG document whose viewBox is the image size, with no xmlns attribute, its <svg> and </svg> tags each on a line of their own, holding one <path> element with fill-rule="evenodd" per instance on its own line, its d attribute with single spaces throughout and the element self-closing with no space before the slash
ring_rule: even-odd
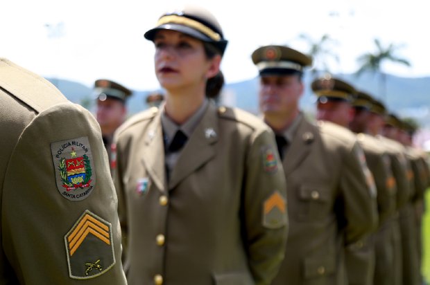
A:
<svg viewBox="0 0 430 285">
<path fill-rule="evenodd" d="M 72 138 L 51 143 L 57 189 L 65 199 L 80 201 L 96 185 L 94 163 L 88 138 Z"/>
</svg>

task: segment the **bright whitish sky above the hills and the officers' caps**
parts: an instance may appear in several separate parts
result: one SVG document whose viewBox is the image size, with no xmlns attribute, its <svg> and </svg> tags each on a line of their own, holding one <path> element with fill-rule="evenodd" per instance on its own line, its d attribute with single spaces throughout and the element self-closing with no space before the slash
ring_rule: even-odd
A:
<svg viewBox="0 0 430 285">
<path fill-rule="evenodd" d="M 358 68 L 356 57 L 384 46 L 402 46 L 397 55 L 411 68 L 387 64 L 399 76 L 430 76 L 425 26 L 430 4 L 422 0 L 301 0 L 301 1 L 148 1 L 135 0 L 14 0 L 3 1 L 0 17 L 0 57 L 45 77 L 62 77 L 91 86 L 105 77 L 139 90 L 157 89 L 153 74 L 153 45 L 144 39 L 164 10 L 198 3 L 211 10 L 229 45 L 222 69 L 227 82 L 257 75 L 250 60 L 255 48 L 287 44 L 307 51 L 298 35 L 338 41 L 333 72 Z M 6 12 L 7 11 L 7 12 Z"/>
</svg>

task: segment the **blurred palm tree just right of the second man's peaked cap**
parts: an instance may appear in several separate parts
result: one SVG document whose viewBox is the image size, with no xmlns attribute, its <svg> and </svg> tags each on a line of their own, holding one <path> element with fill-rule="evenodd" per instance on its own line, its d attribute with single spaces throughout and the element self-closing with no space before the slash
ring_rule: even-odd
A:
<svg viewBox="0 0 430 285">
<path fill-rule="evenodd" d="M 300 34 L 299 38 L 307 42 L 309 46 L 309 51 L 307 53 L 313 58 L 313 68 L 311 70 L 313 77 L 318 75 L 318 71 L 329 73 L 329 66 L 327 64 L 328 57 L 332 57 L 336 62 L 339 62 L 338 55 L 332 51 L 332 46 L 333 44 L 337 44 L 337 41 L 332 39 L 329 35 L 322 35 L 317 41 L 306 34 Z"/>
</svg>

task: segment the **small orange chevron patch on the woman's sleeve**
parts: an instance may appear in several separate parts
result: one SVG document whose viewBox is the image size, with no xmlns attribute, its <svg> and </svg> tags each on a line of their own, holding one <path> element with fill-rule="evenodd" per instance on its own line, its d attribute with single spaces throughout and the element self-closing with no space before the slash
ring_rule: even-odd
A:
<svg viewBox="0 0 430 285">
<path fill-rule="evenodd" d="M 286 225 L 286 200 L 277 191 L 273 192 L 263 204 L 263 226 L 281 228 Z"/>
</svg>

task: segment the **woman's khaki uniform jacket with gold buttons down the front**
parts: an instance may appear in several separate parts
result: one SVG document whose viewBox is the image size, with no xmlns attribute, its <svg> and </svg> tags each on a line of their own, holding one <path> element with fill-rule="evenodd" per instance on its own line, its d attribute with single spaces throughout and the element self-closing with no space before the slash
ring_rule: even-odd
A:
<svg viewBox="0 0 430 285">
<path fill-rule="evenodd" d="M 116 134 L 128 284 L 270 284 L 287 232 L 272 131 L 211 103 L 167 182 L 160 113 L 144 111 Z"/>
</svg>

